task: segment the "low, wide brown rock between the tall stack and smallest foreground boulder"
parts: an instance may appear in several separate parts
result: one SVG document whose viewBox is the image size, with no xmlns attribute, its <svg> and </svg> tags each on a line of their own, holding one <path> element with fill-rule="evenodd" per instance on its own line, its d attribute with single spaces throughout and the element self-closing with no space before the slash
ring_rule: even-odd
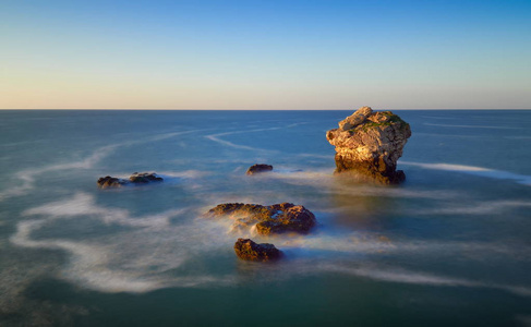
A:
<svg viewBox="0 0 531 327">
<path fill-rule="evenodd" d="M 316 225 L 315 216 L 309 209 L 291 203 L 270 206 L 227 203 L 212 208 L 207 216 L 228 216 L 233 219 L 234 232 L 254 227 L 262 235 L 286 232 L 307 233 Z"/>
</svg>

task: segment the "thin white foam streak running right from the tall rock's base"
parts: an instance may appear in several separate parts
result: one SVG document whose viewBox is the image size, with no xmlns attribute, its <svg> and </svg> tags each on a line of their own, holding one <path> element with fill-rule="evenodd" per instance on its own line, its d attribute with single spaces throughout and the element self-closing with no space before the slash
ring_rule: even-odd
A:
<svg viewBox="0 0 531 327">
<path fill-rule="evenodd" d="M 422 164 L 422 162 L 400 161 L 400 165 L 415 166 L 415 167 L 420 167 L 424 169 L 433 169 L 433 170 L 464 172 L 469 174 L 498 179 L 498 180 L 515 180 L 517 183 L 531 186 L 531 175 L 518 174 L 509 171 L 495 170 L 495 169 L 474 167 L 474 166 L 452 165 L 452 164 Z"/>
</svg>

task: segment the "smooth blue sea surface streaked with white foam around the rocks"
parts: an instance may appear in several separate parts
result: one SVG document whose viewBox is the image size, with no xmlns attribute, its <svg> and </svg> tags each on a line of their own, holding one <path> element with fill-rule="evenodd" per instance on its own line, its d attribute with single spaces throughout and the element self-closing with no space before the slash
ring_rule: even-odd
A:
<svg viewBox="0 0 531 327">
<path fill-rule="evenodd" d="M 531 326 L 531 111 L 394 112 L 399 186 L 334 177 L 352 111 L 0 111 L 0 326 Z M 233 234 L 227 202 L 319 225 Z"/>
</svg>

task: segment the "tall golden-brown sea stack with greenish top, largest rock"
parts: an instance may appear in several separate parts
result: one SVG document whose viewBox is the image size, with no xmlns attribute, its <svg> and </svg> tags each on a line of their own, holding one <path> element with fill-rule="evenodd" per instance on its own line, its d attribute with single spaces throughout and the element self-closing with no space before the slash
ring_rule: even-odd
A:
<svg viewBox="0 0 531 327">
<path fill-rule="evenodd" d="M 407 122 L 391 111 L 362 107 L 326 133 L 336 147 L 336 172 L 352 172 L 360 180 L 396 184 L 406 179 L 396 170 L 403 146 L 411 136 Z"/>
</svg>

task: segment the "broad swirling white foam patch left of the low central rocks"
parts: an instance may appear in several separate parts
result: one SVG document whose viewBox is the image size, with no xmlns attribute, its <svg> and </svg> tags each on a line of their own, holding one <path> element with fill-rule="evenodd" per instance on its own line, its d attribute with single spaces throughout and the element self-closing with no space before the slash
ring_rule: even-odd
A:
<svg viewBox="0 0 531 327">
<path fill-rule="evenodd" d="M 102 292 L 137 293 L 166 287 L 232 283 L 232 276 L 174 276 L 168 272 L 196 257 L 197 253 L 216 251 L 225 238 L 220 227 L 212 226 L 209 221 L 171 226 L 169 218 L 183 213 L 184 209 L 171 209 L 145 217 L 131 217 L 128 210 L 98 207 L 90 195 L 80 193 L 67 201 L 25 210 L 23 217 L 45 218 L 20 221 L 10 241 L 17 246 L 64 251 L 70 261 L 60 277 Z M 133 230 L 112 235 L 104 233 L 83 242 L 32 239 L 33 232 L 55 220 L 86 219 L 86 216 L 104 223 L 128 226 Z"/>
</svg>

